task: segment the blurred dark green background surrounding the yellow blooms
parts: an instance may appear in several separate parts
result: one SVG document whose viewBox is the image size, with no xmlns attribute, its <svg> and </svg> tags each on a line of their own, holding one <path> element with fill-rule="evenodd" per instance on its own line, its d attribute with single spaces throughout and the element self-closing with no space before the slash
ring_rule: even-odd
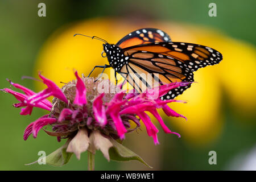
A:
<svg viewBox="0 0 256 182">
<path fill-rule="evenodd" d="M 47 16 L 38 16 L 38 3 L 44 2 L 47 7 Z M 208 5 L 214 2 L 217 4 L 217 17 L 208 16 Z M 47 38 L 68 23 L 77 20 L 85 20 L 95 17 L 128 17 L 131 21 L 140 18 L 152 20 L 172 20 L 189 24 L 199 24 L 214 27 L 226 35 L 245 40 L 247 43 L 256 44 L 254 19 L 256 1 L 0 1 L 0 87 L 9 87 L 6 78 L 19 82 L 28 88 L 35 89 L 31 80 L 20 80 L 24 75 L 34 76 L 35 60 L 38 57 L 40 48 Z M 114 28 L 114 27 L 113 27 Z M 127 32 L 128 33 L 128 32 Z M 235 53 L 235 52 L 234 52 Z M 49 65 L 49 69 L 51 65 Z M 251 83 L 255 84 L 255 82 Z M 250 89 L 245 88 L 245 89 Z M 131 150 L 149 159 L 158 160 L 159 170 L 217 170 L 217 169 L 240 169 L 237 163 L 239 156 L 245 156 L 253 150 L 256 144 L 255 114 L 245 117 L 234 114 L 229 102 L 225 99 L 225 92 L 222 93 L 221 109 L 224 113 L 224 127 L 221 136 L 212 143 L 204 146 L 193 146 L 182 139 L 165 135 L 162 130 L 159 132 L 160 146 L 154 146 L 152 139 L 141 136 L 140 143 L 151 142 L 149 147 L 155 147 L 158 156 L 151 155 L 151 149 L 139 152 L 136 147 Z M 237 98 L 242 99 L 242 98 Z M 47 154 L 60 147 L 55 138 L 48 137 L 42 131 L 39 137 L 30 137 L 23 141 L 23 131 L 28 123 L 35 121 L 43 113 L 40 109 L 34 109 L 31 116 L 19 115 L 19 109 L 11 104 L 15 99 L 11 95 L 0 93 L 1 111 L 1 170 L 86 170 L 86 153 L 82 154 L 81 160 L 72 156 L 71 161 L 63 167 L 51 167 L 34 164 L 24 166 L 25 163 L 38 159 L 38 151 L 46 151 Z M 245 114 L 246 115 L 246 114 Z M 248 123 L 242 125 L 242 122 Z M 207 122 L 207 121 L 205 121 Z M 175 128 L 172 128 L 174 131 Z M 144 137 L 143 137 L 144 136 Z M 129 136 L 127 137 L 129 139 Z M 144 141 L 145 140 L 145 141 Z M 127 142 L 127 147 L 129 142 Z M 217 165 L 209 165 L 208 152 L 217 152 Z M 255 151 L 254 151 L 255 152 Z M 243 157 L 243 155 L 245 155 Z M 255 160 L 254 154 L 254 160 Z M 155 158 L 155 159 L 153 159 Z M 150 161 L 147 161 L 151 164 Z M 135 168 L 132 167 L 133 164 Z M 254 163 L 256 165 L 256 163 Z M 131 165 L 129 167 L 129 165 Z M 237 165 L 237 166 L 236 166 Z M 96 155 L 96 170 L 121 170 L 121 169 L 146 169 L 137 162 L 118 163 L 108 162 L 101 154 Z M 255 169 L 255 168 L 254 168 Z"/>
</svg>

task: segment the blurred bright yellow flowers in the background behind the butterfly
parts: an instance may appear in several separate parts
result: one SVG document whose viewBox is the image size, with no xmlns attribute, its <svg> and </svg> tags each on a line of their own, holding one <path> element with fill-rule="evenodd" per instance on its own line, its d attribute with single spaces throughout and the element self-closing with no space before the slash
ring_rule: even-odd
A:
<svg viewBox="0 0 256 182">
<path fill-rule="evenodd" d="M 188 104 L 172 104 L 179 113 L 188 118 L 187 122 L 172 121 L 176 132 L 183 139 L 194 144 L 206 144 L 216 139 L 222 129 L 221 113 L 222 89 L 228 100 L 242 114 L 254 114 L 255 98 L 255 48 L 250 44 L 234 40 L 212 28 L 177 24 L 173 22 L 141 22 L 133 24 L 123 19 L 90 19 L 73 23 L 69 27 L 54 32 L 39 53 L 35 67 L 44 76 L 56 83 L 67 82 L 73 78 L 73 68 L 85 76 L 95 65 L 104 65 L 108 60 L 101 57 L 102 43 L 82 36 L 80 33 L 98 36 L 109 43 L 117 43 L 123 36 L 138 28 L 153 27 L 167 32 L 174 42 L 190 42 L 217 49 L 224 59 L 213 67 L 195 72 L 195 81 L 179 100 Z M 98 76 L 98 68 L 92 76 Z M 110 75 L 110 69 L 105 73 Z M 112 77 L 113 78 L 113 77 Z M 40 84 L 36 85 L 38 90 Z M 166 118 L 166 121 L 170 118 Z"/>
</svg>

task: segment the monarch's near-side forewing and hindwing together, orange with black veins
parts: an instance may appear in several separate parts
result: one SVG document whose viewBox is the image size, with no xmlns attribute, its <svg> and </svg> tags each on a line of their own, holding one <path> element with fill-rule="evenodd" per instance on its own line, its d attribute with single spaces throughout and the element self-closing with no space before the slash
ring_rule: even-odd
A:
<svg viewBox="0 0 256 182">
<path fill-rule="evenodd" d="M 138 92 L 151 88 L 155 83 L 162 85 L 179 81 L 192 82 L 193 71 L 207 65 L 218 64 L 222 60 L 220 52 L 209 47 L 191 43 L 150 43 L 127 47 L 123 51 L 125 56 L 129 56 L 129 61 L 122 68 L 121 72 L 129 73 L 126 76 L 127 81 Z M 152 77 L 155 77 L 157 74 L 158 82 L 148 83 L 148 78 L 144 76 L 147 73 L 150 73 Z M 189 88 L 189 86 L 190 84 L 184 88 L 170 90 L 162 99 L 175 98 L 183 93 L 185 89 Z"/>
</svg>

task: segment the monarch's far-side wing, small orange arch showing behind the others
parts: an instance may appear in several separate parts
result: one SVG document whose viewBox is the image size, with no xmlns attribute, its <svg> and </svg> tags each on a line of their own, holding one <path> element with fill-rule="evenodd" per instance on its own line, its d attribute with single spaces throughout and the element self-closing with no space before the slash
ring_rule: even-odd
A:
<svg viewBox="0 0 256 182">
<path fill-rule="evenodd" d="M 166 32 L 156 28 L 142 28 L 135 30 L 116 44 L 120 48 L 127 48 L 140 44 L 171 42 L 171 38 Z"/>
</svg>

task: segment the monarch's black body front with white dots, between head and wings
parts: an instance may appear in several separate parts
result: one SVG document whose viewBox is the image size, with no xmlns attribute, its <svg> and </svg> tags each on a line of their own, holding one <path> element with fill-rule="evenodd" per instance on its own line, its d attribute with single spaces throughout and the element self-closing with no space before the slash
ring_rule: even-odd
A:
<svg viewBox="0 0 256 182">
<path fill-rule="evenodd" d="M 123 65 L 127 64 L 127 59 L 122 49 L 114 44 L 103 44 L 103 47 L 110 66 L 116 72 L 121 71 Z"/>
</svg>

